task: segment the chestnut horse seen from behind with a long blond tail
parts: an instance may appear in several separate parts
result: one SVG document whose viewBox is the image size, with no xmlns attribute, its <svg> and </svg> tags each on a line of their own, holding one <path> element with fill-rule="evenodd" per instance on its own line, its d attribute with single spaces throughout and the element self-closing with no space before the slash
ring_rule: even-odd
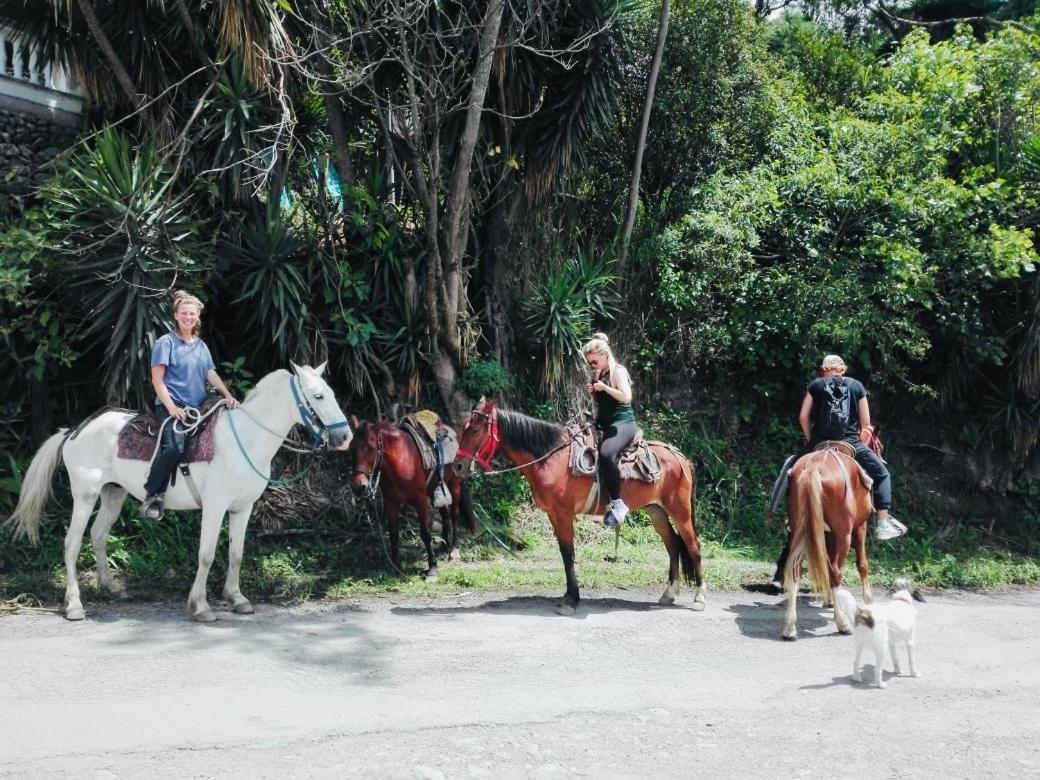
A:
<svg viewBox="0 0 1040 780">
<path fill-rule="evenodd" d="M 841 587 L 844 560 L 852 543 L 856 545 L 863 600 L 866 603 L 874 600 L 866 564 L 866 521 L 874 511 L 869 477 L 839 448 L 841 442 L 827 444 L 799 460 L 791 469 L 787 496 L 790 553 L 784 565 L 785 640 L 798 639 L 796 606 L 803 557 L 808 561 L 813 589 L 825 604 L 835 604 L 834 622 L 839 632 L 852 633 L 853 616 L 844 615 L 834 599 L 834 591 Z"/>
</svg>

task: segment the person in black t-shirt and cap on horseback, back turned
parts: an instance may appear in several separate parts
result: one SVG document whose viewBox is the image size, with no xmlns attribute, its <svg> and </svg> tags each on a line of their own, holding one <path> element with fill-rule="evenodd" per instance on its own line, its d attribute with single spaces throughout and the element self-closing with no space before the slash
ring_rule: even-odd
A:
<svg viewBox="0 0 1040 780">
<path fill-rule="evenodd" d="M 856 448 L 856 462 L 874 479 L 874 508 L 878 515 L 875 537 L 879 540 L 896 539 L 906 534 L 906 526 L 892 517 L 892 485 L 885 462 L 867 446 L 870 441 L 870 407 L 866 401 L 866 388 L 858 380 L 846 376 L 846 363 L 837 355 L 828 355 L 820 365 L 821 375 L 809 383 L 798 422 L 802 426 L 805 443 L 802 449 L 787 459 L 780 476 L 773 486 L 766 521 L 772 521 L 774 513 L 787 494 L 787 474 L 795 462 L 811 452 L 824 441 L 844 441 Z M 777 562 L 774 586 L 783 578 L 783 563 L 787 558 L 787 548 Z"/>
</svg>

